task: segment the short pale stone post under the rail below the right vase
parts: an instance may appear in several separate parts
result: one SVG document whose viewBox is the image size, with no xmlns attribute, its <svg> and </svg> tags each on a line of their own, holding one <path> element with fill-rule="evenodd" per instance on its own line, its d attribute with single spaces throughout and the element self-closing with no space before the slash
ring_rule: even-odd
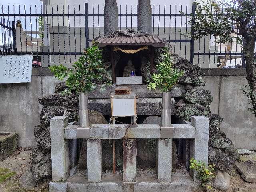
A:
<svg viewBox="0 0 256 192">
<path fill-rule="evenodd" d="M 158 182 L 172 182 L 172 139 L 161 138 L 157 142 Z"/>
</svg>

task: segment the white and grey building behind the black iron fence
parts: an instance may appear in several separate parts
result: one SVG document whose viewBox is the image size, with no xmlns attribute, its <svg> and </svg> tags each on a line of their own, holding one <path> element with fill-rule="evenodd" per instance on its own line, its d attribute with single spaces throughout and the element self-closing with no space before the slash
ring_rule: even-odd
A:
<svg viewBox="0 0 256 192">
<path fill-rule="evenodd" d="M 104 36 L 104 3 L 105 0 L 42 0 L 43 12 L 47 14 L 59 14 L 59 17 L 45 17 L 44 25 L 44 52 L 82 52 L 85 48 L 85 3 L 88 3 L 88 13 L 94 16 L 88 16 L 89 39 L 96 36 Z M 161 38 L 170 39 L 173 51 L 190 60 L 190 42 L 179 42 L 179 40 L 189 40 L 184 33 L 190 32 L 190 25 L 186 24 L 190 18 L 180 16 L 180 11 L 191 13 L 192 3 L 194 0 L 151 0 L 152 14 L 161 14 L 152 17 L 152 33 L 159 35 Z M 125 16 L 125 14 L 136 14 L 138 0 L 117 0 L 118 12 L 122 14 L 118 18 L 120 30 L 133 28 L 137 30 L 137 17 Z M 62 16 L 62 14 L 70 14 Z M 81 14 L 81 16 L 72 16 L 72 14 Z M 168 14 L 177 14 L 169 16 Z M 200 40 L 194 41 L 194 53 L 203 53 L 205 55 L 194 54 L 194 64 L 201 68 L 216 68 L 218 62 L 222 62 L 225 56 L 220 54 L 211 55 L 208 53 L 221 52 L 225 53 L 226 45 L 218 45 L 214 42 L 214 37 L 207 36 Z M 176 40 L 176 42 L 173 42 Z M 91 42 L 90 42 L 91 43 Z M 36 46 L 35 46 L 36 47 Z M 240 52 L 240 45 L 232 44 L 231 52 Z M 74 55 L 45 55 L 43 65 L 62 63 L 71 66 L 79 56 Z M 210 59 L 209 59 L 210 58 Z M 233 57 L 234 58 L 234 57 Z M 50 63 L 48 63 L 48 60 Z M 210 62 L 209 62 L 210 61 Z M 237 56 L 236 64 L 241 59 Z M 233 66 L 234 59 L 226 62 L 227 66 Z"/>
</svg>

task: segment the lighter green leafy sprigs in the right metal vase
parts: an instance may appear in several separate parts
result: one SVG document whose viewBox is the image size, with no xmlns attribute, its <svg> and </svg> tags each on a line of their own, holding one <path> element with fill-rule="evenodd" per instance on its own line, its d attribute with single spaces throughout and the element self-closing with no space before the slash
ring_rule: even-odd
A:
<svg viewBox="0 0 256 192">
<path fill-rule="evenodd" d="M 152 74 L 151 80 L 148 81 L 148 89 L 159 88 L 162 91 L 170 91 L 172 87 L 178 82 L 178 78 L 184 74 L 183 70 L 173 68 L 174 58 L 170 52 L 165 49 L 164 58 L 162 62 L 156 65 L 156 73 Z"/>
</svg>

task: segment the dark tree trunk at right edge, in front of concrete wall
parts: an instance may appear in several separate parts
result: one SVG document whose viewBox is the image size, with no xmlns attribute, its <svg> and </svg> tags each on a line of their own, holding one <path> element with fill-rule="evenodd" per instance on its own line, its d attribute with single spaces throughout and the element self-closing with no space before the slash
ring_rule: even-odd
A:
<svg viewBox="0 0 256 192">
<path fill-rule="evenodd" d="M 256 94 L 256 62 L 254 56 L 255 49 L 255 37 L 244 38 L 245 46 L 244 46 L 244 57 L 246 62 L 246 79 L 248 81 L 250 89 Z M 256 99 L 252 96 L 250 97 L 252 101 L 252 107 L 254 111 L 256 111 Z M 254 113 L 256 117 L 256 113 Z"/>
</svg>

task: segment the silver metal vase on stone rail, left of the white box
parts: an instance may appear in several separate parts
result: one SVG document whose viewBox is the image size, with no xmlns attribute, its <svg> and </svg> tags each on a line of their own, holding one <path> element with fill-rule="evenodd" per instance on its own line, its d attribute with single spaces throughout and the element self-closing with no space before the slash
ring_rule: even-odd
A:
<svg viewBox="0 0 256 192">
<path fill-rule="evenodd" d="M 89 127 L 88 94 L 79 93 L 79 124 L 80 127 Z"/>
</svg>

